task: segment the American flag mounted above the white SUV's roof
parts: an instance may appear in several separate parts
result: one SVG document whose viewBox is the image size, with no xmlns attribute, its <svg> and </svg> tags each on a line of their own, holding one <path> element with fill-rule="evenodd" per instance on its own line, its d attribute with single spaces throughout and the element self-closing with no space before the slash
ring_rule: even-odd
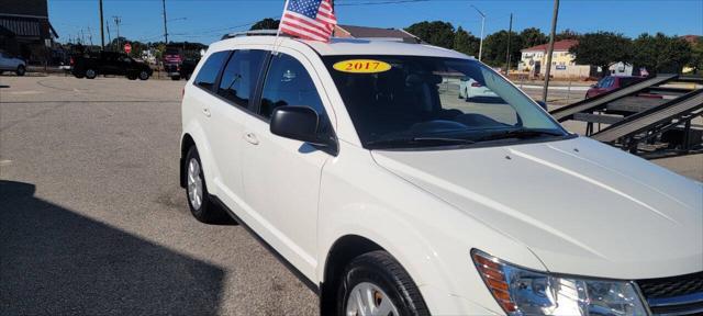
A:
<svg viewBox="0 0 703 316">
<path fill-rule="evenodd" d="M 332 0 L 288 0 L 280 32 L 303 38 L 330 42 L 337 18 Z"/>
</svg>

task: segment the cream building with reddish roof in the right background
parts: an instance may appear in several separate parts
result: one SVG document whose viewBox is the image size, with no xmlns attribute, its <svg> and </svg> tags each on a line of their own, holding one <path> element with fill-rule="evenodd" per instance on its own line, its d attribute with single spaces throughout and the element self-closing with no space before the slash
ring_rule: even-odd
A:
<svg viewBox="0 0 703 316">
<path fill-rule="evenodd" d="M 563 40 L 554 43 L 550 70 L 550 75 L 554 78 L 587 78 L 591 76 L 592 67 L 590 65 L 577 65 L 574 61 L 576 56 L 569 53 L 569 49 L 578 43 L 576 40 Z M 529 72 L 535 77 L 538 75 L 544 76 L 548 48 L 549 44 L 543 44 L 522 49 L 522 58 L 517 65 L 517 70 Z"/>
</svg>

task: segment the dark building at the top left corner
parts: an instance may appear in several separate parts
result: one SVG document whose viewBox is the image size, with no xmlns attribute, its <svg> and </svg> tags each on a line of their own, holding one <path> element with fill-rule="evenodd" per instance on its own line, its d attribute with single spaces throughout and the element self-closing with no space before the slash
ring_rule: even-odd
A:
<svg viewBox="0 0 703 316">
<path fill-rule="evenodd" d="M 47 0 L 0 0 L 0 50 L 41 65 L 56 38 Z"/>
</svg>

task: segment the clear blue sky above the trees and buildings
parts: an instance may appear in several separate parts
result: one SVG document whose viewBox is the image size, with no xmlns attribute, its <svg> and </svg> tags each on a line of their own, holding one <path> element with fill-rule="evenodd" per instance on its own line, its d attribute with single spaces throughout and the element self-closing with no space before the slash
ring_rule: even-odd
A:
<svg viewBox="0 0 703 316">
<path fill-rule="evenodd" d="M 116 30 L 111 16 L 122 19 L 120 35 L 144 42 L 161 41 L 164 24 L 160 0 L 103 0 L 110 32 Z M 549 29 L 551 0 L 425 0 L 387 3 L 398 0 L 336 0 L 341 24 L 405 27 L 425 20 L 444 20 L 480 33 L 480 16 L 469 5 L 481 9 L 488 16 L 486 32 L 507 29 L 510 13 L 514 14 L 514 30 Z M 405 0 L 408 1 L 408 0 Z M 375 5 L 367 3 L 377 3 Z M 100 44 L 98 0 L 48 0 L 49 19 L 62 42 L 88 30 L 94 44 Z M 282 0 L 166 0 L 169 41 L 212 43 L 231 31 L 248 30 L 252 22 L 264 18 L 279 18 Z M 578 32 L 614 31 L 635 37 L 644 32 L 669 35 L 703 35 L 703 0 L 562 0 L 558 30 Z M 107 35 L 105 35 L 107 41 Z"/>
</svg>

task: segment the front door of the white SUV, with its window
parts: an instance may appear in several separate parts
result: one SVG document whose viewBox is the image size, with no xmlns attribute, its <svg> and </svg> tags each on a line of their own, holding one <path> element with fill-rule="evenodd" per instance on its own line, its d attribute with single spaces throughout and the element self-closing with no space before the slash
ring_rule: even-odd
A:
<svg viewBox="0 0 703 316">
<path fill-rule="evenodd" d="M 321 133 L 332 135 L 333 125 L 323 105 L 328 101 L 320 93 L 322 84 L 312 70 L 310 61 L 295 50 L 280 49 L 271 55 L 257 116 L 246 121 L 248 146 L 243 151 L 242 179 L 257 233 L 314 280 L 320 177 L 332 156 L 269 131 L 276 108 L 300 105 L 317 112 L 324 126 Z"/>
</svg>

